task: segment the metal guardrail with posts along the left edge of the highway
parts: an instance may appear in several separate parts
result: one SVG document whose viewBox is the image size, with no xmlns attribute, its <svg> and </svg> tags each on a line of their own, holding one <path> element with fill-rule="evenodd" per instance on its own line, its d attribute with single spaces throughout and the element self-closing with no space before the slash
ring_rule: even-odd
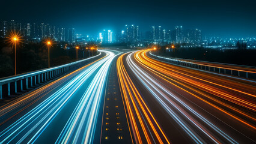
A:
<svg viewBox="0 0 256 144">
<path fill-rule="evenodd" d="M 101 55 L 101 52 L 99 52 L 96 56 L 82 59 L 81 61 L 71 62 L 69 64 L 45 68 L 43 70 L 32 71 L 29 73 L 18 74 L 16 76 L 3 77 L 0 79 L 0 99 L 2 99 L 4 95 L 10 96 L 11 92 L 16 94 L 17 90 L 28 90 L 29 87 L 40 84 L 41 82 L 46 82 L 47 80 L 50 80 L 68 70 L 72 70 L 73 68 L 78 68 L 79 66 L 85 64 L 85 62 L 88 60 L 96 58 L 99 55 Z M 3 90 L 5 90 L 6 94 L 3 94 Z"/>
</svg>

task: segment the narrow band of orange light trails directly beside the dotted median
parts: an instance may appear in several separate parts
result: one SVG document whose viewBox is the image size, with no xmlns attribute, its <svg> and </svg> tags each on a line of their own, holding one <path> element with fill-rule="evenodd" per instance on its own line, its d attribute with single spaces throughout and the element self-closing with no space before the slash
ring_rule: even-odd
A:
<svg viewBox="0 0 256 144">
<path fill-rule="evenodd" d="M 123 64 L 124 55 L 121 55 L 117 60 L 117 73 L 125 104 L 124 107 L 127 109 L 132 131 L 135 136 L 135 143 L 144 143 L 143 139 L 145 139 L 147 143 L 154 143 L 153 140 L 155 138 L 157 139 L 157 143 L 170 143 L 150 109 L 145 104 L 145 101 L 139 94 L 138 89 L 136 89 L 128 76 Z M 144 118 L 142 118 L 142 116 Z M 143 121 L 142 119 L 147 119 L 147 121 Z M 139 123 L 136 120 L 139 121 Z M 148 129 L 146 125 L 150 125 L 150 129 Z M 143 134 L 139 133 L 139 129 L 142 129 Z M 150 136 L 151 131 L 154 134 L 153 137 Z M 142 137 L 142 135 L 144 135 L 144 137 Z"/>
</svg>

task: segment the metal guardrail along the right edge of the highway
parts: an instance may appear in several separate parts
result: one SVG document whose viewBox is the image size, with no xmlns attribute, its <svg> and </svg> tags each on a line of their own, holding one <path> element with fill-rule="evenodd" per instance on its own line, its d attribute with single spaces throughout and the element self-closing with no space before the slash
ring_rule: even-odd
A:
<svg viewBox="0 0 256 144">
<path fill-rule="evenodd" d="M 226 68 L 226 67 L 217 67 L 214 65 L 198 64 L 195 62 L 191 62 L 190 59 L 166 58 L 163 56 L 154 55 L 151 51 L 149 52 L 149 54 L 150 54 L 150 57 L 152 58 L 170 62 L 172 64 L 183 65 L 186 67 L 198 68 L 200 70 L 213 71 L 217 73 L 230 74 L 231 76 L 246 77 L 247 79 L 256 79 L 256 71 L 254 72 L 254 71 L 240 70 L 236 68 Z M 205 62 L 205 61 L 198 61 L 198 62 Z M 222 64 L 218 62 L 210 62 L 210 63 Z M 227 65 L 227 64 L 222 64 L 222 65 Z M 256 67 L 246 67 L 244 65 L 234 65 L 234 64 L 228 64 L 228 65 L 232 65 L 234 67 L 237 66 L 237 67 L 245 67 L 245 68 L 255 68 L 256 70 Z"/>
</svg>

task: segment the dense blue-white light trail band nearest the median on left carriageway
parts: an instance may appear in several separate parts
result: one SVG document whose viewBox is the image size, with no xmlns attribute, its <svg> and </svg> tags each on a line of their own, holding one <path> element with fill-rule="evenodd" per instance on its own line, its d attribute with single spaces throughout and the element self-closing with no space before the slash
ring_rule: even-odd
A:
<svg viewBox="0 0 256 144">
<path fill-rule="evenodd" d="M 93 143 L 99 104 L 102 103 L 106 77 L 115 56 L 110 53 L 108 60 L 103 62 L 56 143 Z"/>
</svg>

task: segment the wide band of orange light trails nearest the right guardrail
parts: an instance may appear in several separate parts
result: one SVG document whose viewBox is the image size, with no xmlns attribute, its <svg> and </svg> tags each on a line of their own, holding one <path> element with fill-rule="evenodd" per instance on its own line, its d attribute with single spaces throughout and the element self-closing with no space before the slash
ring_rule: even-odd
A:
<svg viewBox="0 0 256 144">
<path fill-rule="evenodd" d="M 183 68 L 183 67 L 169 65 L 164 62 L 156 61 L 155 59 L 149 58 L 146 55 L 148 51 L 150 50 L 141 50 L 140 52 L 137 52 L 135 54 L 135 59 L 145 68 L 152 71 L 161 79 L 166 80 L 166 82 L 169 82 L 172 85 L 175 85 L 178 88 L 182 89 L 183 91 L 186 91 L 189 94 L 194 95 L 194 97 L 197 97 L 198 99 L 206 102 L 207 104 L 210 104 L 216 109 L 221 110 L 221 112 L 226 113 L 228 116 L 231 116 L 232 118 L 235 118 L 238 121 L 242 122 L 243 124 L 246 124 L 249 127 L 254 128 L 256 130 L 256 127 L 254 124 L 250 124 L 250 122 L 246 122 L 245 119 L 235 116 L 234 112 L 239 113 L 240 115 L 246 116 L 246 118 L 249 118 L 252 121 L 256 120 L 255 116 L 251 115 L 251 113 L 247 112 L 246 110 L 235 108 L 233 104 L 227 104 L 219 100 L 219 98 L 222 98 L 223 100 L 227 100 L 229 102 L 242 106 L 245 109 L 250 109 L 252 110 L 252 112 L 255 112 L 256 110 L 256 105 L 254 101 L 254 98 L 256 97 L 255 86 L 249 85 L 250 83 L 249 84 L 247 83 L 244 84 L 242 82 L 237 83 L 233 80 L 222 79 L 221 77 L 214 77 L 215 80 L 213 80 L 212 75 L 207 76 L 207 74 L 201 73 L 199 71 L 187 70 L 186 68 Z M 203 77 L 203 78 L 200 78 L 200 77 Z M 207 83 L 203 83 L 203 82 L 207 82 Z M 228 84 L 230 85 L 225 86 L 226 83 L 227 85 Z M 181 86 L 178 86 L 178 85 L 181 85 Z M 217 88 L 216 86 L 221 86 L 222 89 Z M 185 88 L 189 90 L 186 90 Z M 227 88 L 227 89 L 224 89 L 224 88 Z M 240 90 L 239 88 L 242 89 L 243 91 Z M 212 95 L 207 94 L 209 92 L 215 95 L 215 97 L 212 97 Z M 240 92 L 241 94 L 234 95 L 234 92 Z M 197 94 L 201 94 L 203 97 L 209 98 L 210 101 L 214 101 L 216 104 L 221 104 L 221 106 L 217 106 L 213 102 L 206 100 L 206 98 L 198 97 Z M 234 112 L 228 112 L 227 110 L 222 109 L 221 107 L 223 106 L 228 107 L 228 109 L 233 110 Z"/>
</svg>

